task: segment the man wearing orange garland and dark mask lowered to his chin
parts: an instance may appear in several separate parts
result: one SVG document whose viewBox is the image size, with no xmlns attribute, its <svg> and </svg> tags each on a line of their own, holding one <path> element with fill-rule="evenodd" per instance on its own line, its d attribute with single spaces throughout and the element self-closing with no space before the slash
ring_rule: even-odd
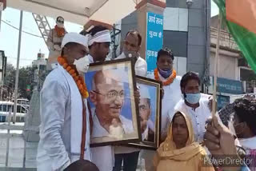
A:
<svg viewBox="0 0 256 171">
<path fill-rule="evenodd" d="M 174 106 L 182 99 L 180 82 L 182 77 L 176 74 L 173 68 L 174 54 L 168 49 L 158 51 L 157 68 L 154 75 L 149 77 L 162 82 L 162 114 L 161 114 L 161 139 L 164 141 L 167 136 L 167 128 L 170 124 L 170 115 L 174 113 Z M 170 79 L 173 81 L 170 82 Z"/>
</svg>

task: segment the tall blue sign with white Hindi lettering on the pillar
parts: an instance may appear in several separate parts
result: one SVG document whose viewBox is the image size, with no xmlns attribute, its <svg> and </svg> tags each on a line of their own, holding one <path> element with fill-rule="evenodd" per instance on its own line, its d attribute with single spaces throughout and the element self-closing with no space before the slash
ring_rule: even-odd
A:
<svg viewBox="0 0 256 171">
<path fill-rule="evenodd" d="M 158 50 L 162 49 L 163 16 L 151 12 L 146 16 L 146 62 L 147 71 L 152 74 L 157 67 Z"/>
</svg>

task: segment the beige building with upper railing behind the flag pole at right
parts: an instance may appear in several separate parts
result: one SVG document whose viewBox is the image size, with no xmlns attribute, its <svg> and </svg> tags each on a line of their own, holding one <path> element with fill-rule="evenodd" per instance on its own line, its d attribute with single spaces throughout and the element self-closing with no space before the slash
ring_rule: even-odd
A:
<svg viewBox="0 0 256 171">
<path fill-rule="evenodd" d="M 210 76 L 214 75 L 214 58 L 218 33 L 218 15 L 210 21 Z M 225 23 L 220 34 L 220 50 L 218 59 L 218 77 L 242 82 L 244 93 L 254 93 L 256 74 L 239 50 Z"/>
</svg>

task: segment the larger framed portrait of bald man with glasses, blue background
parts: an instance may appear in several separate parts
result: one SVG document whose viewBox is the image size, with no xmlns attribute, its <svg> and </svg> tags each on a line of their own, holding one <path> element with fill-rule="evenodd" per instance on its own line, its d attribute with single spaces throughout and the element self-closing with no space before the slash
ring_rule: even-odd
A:
<svg viewBox="0 0 256 171">
<path fill-rule="evenodd" d="M 133 64 L 133 59 L 94 63 L 85 74 L 93 120 L 92 147 L 141 140 Z"/>
</svg>

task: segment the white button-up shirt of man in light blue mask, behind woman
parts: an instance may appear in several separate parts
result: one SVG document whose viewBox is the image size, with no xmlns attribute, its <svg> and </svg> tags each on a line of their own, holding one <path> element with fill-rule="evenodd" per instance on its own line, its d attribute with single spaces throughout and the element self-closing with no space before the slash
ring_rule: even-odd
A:
<svg viewBox="0 0 256 171">
<path fill-rule="evenodd" d="M 186 105 L 185 101 L 182 99 L 174 108 L 174 111 L 182 111 L 189 114 L 194 129 L 194 140 L 199 143 L 202 143 L 203 135 L 206 132 L 206 120 L 211 116 L 208 103 L 209 99 L 201 97 L 199 107 L 194 110 Z M 174 113 L 170 115 L 170 120 L 172 120 L 173 117 Z"/>
</svg>

